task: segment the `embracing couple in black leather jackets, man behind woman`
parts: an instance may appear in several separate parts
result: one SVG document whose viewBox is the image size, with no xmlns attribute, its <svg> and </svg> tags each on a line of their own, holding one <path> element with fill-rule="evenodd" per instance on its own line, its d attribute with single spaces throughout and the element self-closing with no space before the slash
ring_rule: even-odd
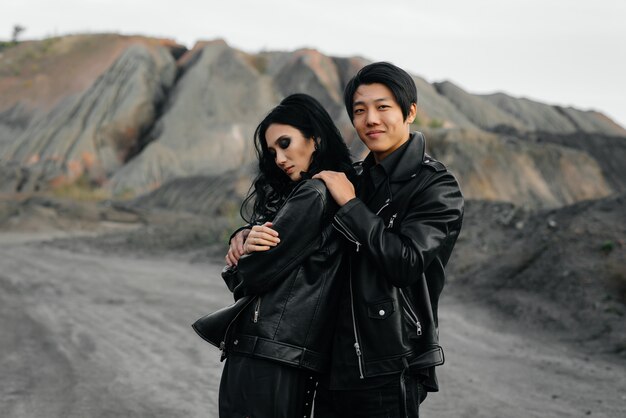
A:
<svg viewBox="0 0 626 418">
<path fill-rule="evenodd" d="M 407 72 L 367 65 L 344 101 L 370 151 L 361 163 L 304 94 L 255 131 L 248 225 L 222 273 L 236 302 L 194 324 L 226 359 L 220 417 L 417 417 L 438 390 L 438 300 L 463 197 L 410 132 Z"/>
</svg>

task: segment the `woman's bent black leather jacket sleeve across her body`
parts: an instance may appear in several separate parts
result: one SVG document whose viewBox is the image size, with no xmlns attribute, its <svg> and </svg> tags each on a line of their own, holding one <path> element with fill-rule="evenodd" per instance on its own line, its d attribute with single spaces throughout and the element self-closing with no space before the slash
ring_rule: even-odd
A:
<svg viewBox="0 0 626 418">
<path fill-rule="evenodd" d="M 273 220 L 280 243 L 268 251 L 241 257 L 231 270 L 235 299 L 277 286 L 318 248 L 326 205 L 325 186 L 320 180 L 307 180 L 293 192 Z"/>
</svg>

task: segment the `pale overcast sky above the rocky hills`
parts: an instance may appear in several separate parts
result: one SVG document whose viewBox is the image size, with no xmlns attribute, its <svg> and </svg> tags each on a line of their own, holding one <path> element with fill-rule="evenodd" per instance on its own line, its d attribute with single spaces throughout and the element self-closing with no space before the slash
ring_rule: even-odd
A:
<svg viewBox="0 0 626 418">
<path fill-rule="evenodd" d="M 16 24 L 23 39 L 118 32 L 360 55 L 471 93 L 600 110 L 626 126 L 621 0 L 5 1 L 0 39 Z"/>
</svg>

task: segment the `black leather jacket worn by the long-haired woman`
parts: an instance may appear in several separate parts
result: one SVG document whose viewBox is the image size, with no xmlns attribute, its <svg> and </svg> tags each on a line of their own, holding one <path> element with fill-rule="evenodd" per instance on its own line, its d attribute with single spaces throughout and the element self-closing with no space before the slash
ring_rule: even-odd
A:
<svg viewBox="0 0 626 418">
<path fill-rule="evenodd" d="M 328 368 L 341 279 L 337 210 L 321 180 L 304 180 L 274 218 L 280 243 L 222 273 L 235 299 L 253 295 L 226 338 L 226 353 Z"/>
</svg>

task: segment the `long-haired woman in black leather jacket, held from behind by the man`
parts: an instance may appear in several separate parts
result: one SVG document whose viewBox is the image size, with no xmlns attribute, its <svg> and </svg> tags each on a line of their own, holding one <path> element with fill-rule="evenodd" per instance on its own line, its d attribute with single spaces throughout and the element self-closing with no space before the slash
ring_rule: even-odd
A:
<svg viewBox="0 0 626 418">
<path fill-rule="evenodd" d="M 330 116 L 304 94 L 285 98 L 254 139 L 259 175 L 241 213 L 255 226 L 246 254 L 227 258 L 222 274 L 235 300 L 247 301 L 222 344 L 220 416 L 308 417 L 316 375 L 329 363 L 342 277 L 330 223 L 337 206 L 311 177 L 322 170 L 352 177 L 353 169 Z M 255 242 L 266 222 L 280 241 Z"/>
</svg>

